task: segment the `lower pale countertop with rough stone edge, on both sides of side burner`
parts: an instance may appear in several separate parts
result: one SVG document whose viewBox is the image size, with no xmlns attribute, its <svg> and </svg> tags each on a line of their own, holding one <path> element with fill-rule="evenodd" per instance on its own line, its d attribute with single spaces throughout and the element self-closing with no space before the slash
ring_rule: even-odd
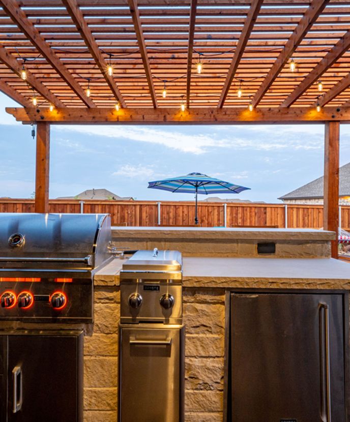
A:
<svg viewBox="0 0 350 422">
<path fill-rule="evenodd" d="M 95 275 L 95 285 L 119 285 L 125 259 Z M 183 258 L 184 287 L 312 287 L 350 289 L 350 264 L 332 258 Z"/>
</svg>

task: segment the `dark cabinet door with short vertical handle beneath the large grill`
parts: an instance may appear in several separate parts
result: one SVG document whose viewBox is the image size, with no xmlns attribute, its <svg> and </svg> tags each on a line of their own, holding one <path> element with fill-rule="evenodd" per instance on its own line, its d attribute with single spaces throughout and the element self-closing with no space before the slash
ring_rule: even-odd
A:
<svg viewBox="0 0 350 422">
<path fill-rule="evenodd" d="M 8 422 L 82 420 L 81 342 L 82 335 L 8 336 Z"/>
</svg>

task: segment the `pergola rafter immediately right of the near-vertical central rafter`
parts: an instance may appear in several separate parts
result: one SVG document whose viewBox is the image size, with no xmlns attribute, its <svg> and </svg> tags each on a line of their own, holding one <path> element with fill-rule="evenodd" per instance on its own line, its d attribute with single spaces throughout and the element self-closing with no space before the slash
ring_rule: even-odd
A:
<svg viewBox="0 0 350 422">
<path fill-rule="evenodd" d="M 220 96 L 220 100 L 218 104 L 218 107 L 220 108 L 222 108 L 224 105 L 228 91 L 231 87 L 232 80 L 234 80 L 237 68 L 240 64 L 242 55 L 244 53 L 244 49 L 246 48 L 246 45 L 248 43 L 250 33 L 253 29 L 253 26 L 255 24 L 257 15 L 260 11 L 261 5 L 263 4 L 263 1 L 264 0 L 253 0 L 251 3 L 250 9 L 248 11 L 248 14 L 247 14 L 247 17 L 242 29 L 242 33 L 240 35 L 240 39 L 238 41 L 238 44 L 235 50 L 234 57 L 232 57 L 232 62 L 228 69 L 226 80 L 222 88 L 222 92 L 221 92 L 221 96 Z"/>
</svg>

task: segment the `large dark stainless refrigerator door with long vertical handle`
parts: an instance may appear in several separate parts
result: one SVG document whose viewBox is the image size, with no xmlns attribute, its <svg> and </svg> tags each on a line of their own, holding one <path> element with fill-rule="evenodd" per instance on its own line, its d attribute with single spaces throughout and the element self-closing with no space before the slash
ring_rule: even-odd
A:
<svg viewBox="0 0 350 422">
<path fill-rule="evenodd" d="M 231 294 L 232 422 L 345 422 L 342 300 Z"/>
</svg>

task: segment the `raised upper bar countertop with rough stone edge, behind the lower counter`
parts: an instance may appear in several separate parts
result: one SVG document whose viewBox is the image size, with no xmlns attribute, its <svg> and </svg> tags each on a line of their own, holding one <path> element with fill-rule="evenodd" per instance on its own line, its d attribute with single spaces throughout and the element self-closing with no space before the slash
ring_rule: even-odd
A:
<svg viewBox="0 0 350 422">
<path fill-rule="evenodd" d="M 245 240 L 333 240 L 335 232 L 316 229 L 271 229 L 227 227 L 112 227 L 118 238 L 245 239 Z"/>
</svg>

